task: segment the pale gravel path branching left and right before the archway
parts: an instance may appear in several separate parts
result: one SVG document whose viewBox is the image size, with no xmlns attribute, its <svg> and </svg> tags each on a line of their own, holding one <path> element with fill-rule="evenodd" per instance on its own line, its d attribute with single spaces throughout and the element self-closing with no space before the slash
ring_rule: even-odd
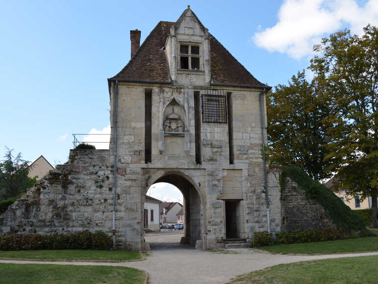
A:
<svg viewBox="0 0 378 284">
<path fill-rule="evenodd" d="M 236 254 L 237 253 L 237 254 Z M 79 261 L 27 261 L 0 260 L 2 263 L 39 263 L 62 265 L 125 266 L 145 270 L 150 283 L 226 283 L 237 275 L 260 270 L 282 263 L 326 258 L 348 258 L 373 256 L 378 252 L 357 254 L 335 254 L 316 256 L 273 255 L 252 249 L 234 249 L 228 253 L 211 253 L 190 248 L 164 249 L 151 252 L 143 261 L 133 262 L 79 262 Z"/>
</svg>

